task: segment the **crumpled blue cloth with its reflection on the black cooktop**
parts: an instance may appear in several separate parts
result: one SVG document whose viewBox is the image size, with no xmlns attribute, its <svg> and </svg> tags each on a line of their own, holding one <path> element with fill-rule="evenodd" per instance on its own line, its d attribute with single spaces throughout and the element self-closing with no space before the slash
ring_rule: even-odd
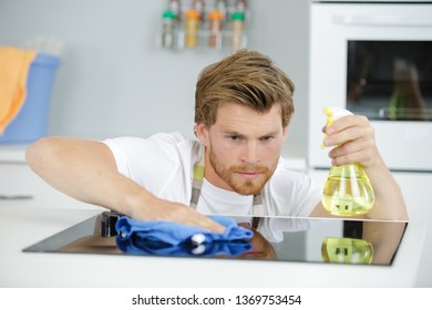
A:
<svg viewBox="0 0 432 310">
<path fill-rule="evenodd" d="M 150 252 L 160 255 L 195 254 L 199 245 L 192 238 L 202 235 L 205 249 L 199 255 L 238 255 L 251 248 L 247 239 L 254 232 L 240 227 L 229 217 L 209 216 L 226 227 L 223 234 L 212 232 L 204 228 L 178 224 L 175 221 L 141 221 L 130 217 L 121 217 L 115 224 L 116 242 L 121 250 L 127 252 Z"/>
</svg>

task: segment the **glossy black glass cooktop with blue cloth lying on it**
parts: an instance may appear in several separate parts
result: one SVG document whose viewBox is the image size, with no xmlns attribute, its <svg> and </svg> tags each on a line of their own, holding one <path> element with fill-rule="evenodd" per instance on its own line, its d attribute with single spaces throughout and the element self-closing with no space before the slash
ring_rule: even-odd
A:
<svg viewBox="0 0 432 310">
<path fill-rule="evenodd" d="M 234 223 L 234 230 L 230 238 L 218 240 L 194 229 L 176 230 L 169 238 L 161 235 L 166 232 L 161 227 L 158 235 L 146 226 L 127 227 L 125 234 L 115 227 L 119 218 L 102 213 L 23 251 L 390 266 L 408 226 L 405 221 L 225 217 Z M 253 223 L 258 223 L 257 228 L 251 228 Z"/>
</svg>

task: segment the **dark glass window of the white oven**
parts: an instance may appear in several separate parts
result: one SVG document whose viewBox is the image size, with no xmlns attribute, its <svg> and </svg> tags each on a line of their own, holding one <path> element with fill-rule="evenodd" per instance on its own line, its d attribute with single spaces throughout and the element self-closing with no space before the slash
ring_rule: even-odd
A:
<svg viewBox="0 0 432 310">
<path fill-rule="evenodd" d="M 378 121 L 432 121 L 432 41 L 348 40 L 347 107 Z"/>
</svg>

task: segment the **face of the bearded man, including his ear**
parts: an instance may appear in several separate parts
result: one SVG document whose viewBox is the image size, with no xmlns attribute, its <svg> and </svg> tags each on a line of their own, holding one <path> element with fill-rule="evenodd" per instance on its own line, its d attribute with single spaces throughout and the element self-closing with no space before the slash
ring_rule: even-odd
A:
<svg viewBox="0 0 432 310">
<path fill-rule="evenodd" d="M 206 146 L 206 179 L 241 195 L 258 194 L 275 172 L 288 135 L 280 110 L 275 104 L 268 113 L 257 113 L 223 103 L 214 125 L 197 124 L 198 138 Z"/>
</svg>

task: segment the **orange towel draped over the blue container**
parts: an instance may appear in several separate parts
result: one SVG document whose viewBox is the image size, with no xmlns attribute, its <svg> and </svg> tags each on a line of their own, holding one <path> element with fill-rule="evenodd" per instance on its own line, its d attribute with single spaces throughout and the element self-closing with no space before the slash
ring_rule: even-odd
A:
<svg viewBox="0 0 432 310">
<path fill-rule="evenodd" d="M 34 51 L 0 46 L 0 135 L 21 111 L 35 55 Z"/>
</svg>

